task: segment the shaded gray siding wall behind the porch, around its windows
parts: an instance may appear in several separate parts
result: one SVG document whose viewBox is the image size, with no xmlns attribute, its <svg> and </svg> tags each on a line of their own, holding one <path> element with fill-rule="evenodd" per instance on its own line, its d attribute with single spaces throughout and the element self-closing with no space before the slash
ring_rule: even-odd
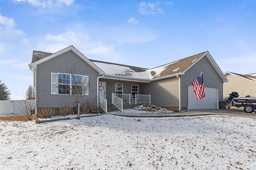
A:
<svg viewBox="0 0 256 170">
<path fill-rule="evenodd" d="M 100 81 L 106 82 L 106 99 L 107 103 L 112 103 L 112 93 L 116 93 L 116 83 L 123 84 L 123 94 L 132 95 L 132 85 L 138 85 L 138 94 L 141 94 L 141 85 L 140 82 L 134 81 L 122 81 L 122 80 L 113 80 L 113 79 L 100 79 Z"/>
</svg>

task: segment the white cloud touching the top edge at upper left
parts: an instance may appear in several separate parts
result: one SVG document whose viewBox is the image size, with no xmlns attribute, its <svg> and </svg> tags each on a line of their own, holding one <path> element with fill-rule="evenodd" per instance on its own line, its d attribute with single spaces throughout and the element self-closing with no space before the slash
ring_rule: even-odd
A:
<svg viewBox="0 0 256 170">
<path fill-rule="evenodd" d="M 52 8 L 55 6 L 70 6 L 75 0 L 13 0 L 20 3 L 30 3 L 33 6 L 41 8 Z"/>
</svg>

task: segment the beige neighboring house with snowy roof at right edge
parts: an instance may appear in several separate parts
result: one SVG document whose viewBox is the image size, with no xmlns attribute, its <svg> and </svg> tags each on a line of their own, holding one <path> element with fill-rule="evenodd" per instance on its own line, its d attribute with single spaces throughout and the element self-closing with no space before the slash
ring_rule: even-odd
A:
<svg viewBox="0 0 256 170">
<path fill-rule="evenodd" d="M 232 91 L 238 92 L 239 97 L 256 97 L 256 73 L 242 75 L 226 72 L 224 75 L 228 82 L 223 85 L 223 97 L 228 97 Z"/>
</svg>

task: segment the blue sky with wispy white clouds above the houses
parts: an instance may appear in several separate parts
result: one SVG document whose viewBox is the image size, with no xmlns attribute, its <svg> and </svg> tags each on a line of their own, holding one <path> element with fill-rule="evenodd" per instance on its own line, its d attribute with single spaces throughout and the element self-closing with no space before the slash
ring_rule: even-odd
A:
<svg viewBox="0 0 256 170">
<path fill-rule="evenodd" d="M 32 50 L 70 45 L 145 68 L 208 50 L 224 73 L 255 73 L 255 16 L 255 0 L 0 0 L 0 80 L 22 99 Z"/>
</svg>

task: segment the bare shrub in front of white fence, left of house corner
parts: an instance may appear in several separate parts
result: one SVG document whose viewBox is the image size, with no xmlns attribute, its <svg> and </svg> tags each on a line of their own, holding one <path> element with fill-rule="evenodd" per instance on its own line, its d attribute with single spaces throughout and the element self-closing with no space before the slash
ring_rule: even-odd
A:
<svg viewBox="0 0 256 170">
<path fill-rule="evenodd" d="M 24 114 L 26 118 L 31 121 L 33 120 L 35 114 L 35 104 L 29 100 L 23 100 L 21 102 L 21 107 L 18 108 L 20 113 Z"/>
</svg>

